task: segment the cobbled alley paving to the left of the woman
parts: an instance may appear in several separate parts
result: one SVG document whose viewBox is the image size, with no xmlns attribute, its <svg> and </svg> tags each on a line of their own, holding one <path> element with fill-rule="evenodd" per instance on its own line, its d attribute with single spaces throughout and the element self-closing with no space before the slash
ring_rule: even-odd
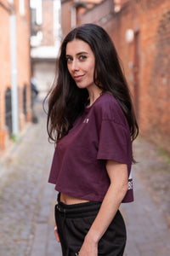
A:
<svg viewBox="0 0 170 256">
<path fill-rule="evenodd" d="M 48 143 L 42 103 L 38 124 L 0 162 L 0 255 L 60 255 L 54 239 L 54 186 L 47 183 L 54 146 Z"/>
</svg>

